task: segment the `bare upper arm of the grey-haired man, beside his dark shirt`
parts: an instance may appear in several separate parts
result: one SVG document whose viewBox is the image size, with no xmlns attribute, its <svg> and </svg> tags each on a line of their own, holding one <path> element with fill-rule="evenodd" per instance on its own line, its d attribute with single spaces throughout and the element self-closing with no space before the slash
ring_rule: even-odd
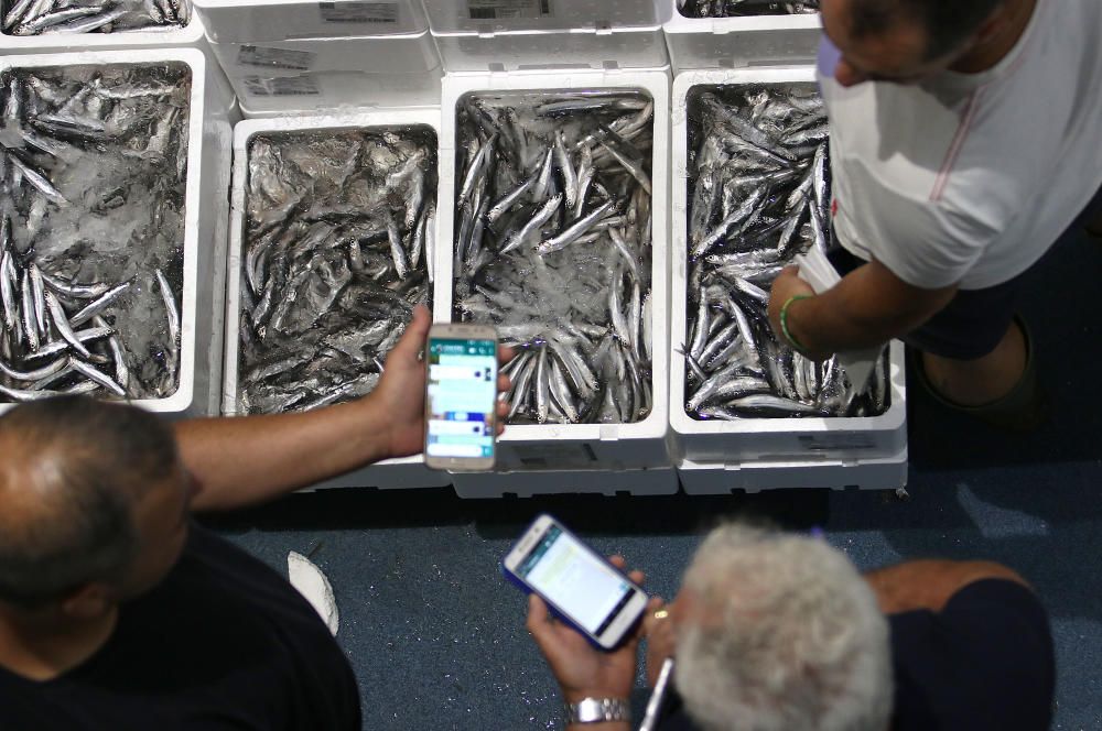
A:
<svg viewBox="0 0 1102 731">
<path fill-rule="evenodd" d="M 983 579 L 1029 586 L 1017 572 L 993 561 L 914 560 L 865 574 L 885 614 L 919 609 L 940 612 L 953 594 Z"/>
</svg>

